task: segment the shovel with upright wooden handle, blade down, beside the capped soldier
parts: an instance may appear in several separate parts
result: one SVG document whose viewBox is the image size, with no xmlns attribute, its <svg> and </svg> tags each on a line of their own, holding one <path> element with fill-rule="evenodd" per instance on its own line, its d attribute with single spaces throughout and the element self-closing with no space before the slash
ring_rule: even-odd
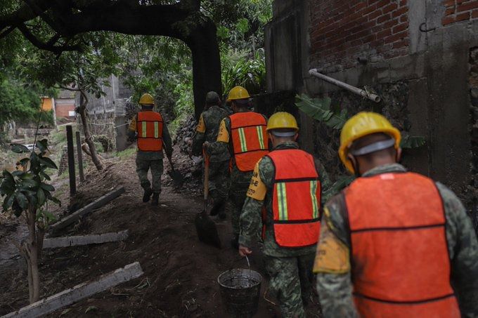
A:
<svg viewBox="0 0 478 318">
<path fill-rule="evenodd" d="M 209 195 L 209 158 L 205 154 L 205 167 L 204 167 L 204 210 L 196 215 L 194 224 L 196 226 L 196 232 L 198 232 L 198 238 L 205 244 L 216 246 L 221 248 L 221 240 L 219 234 L 217 234 L 216 223 L 214 223 L 209 216 L 207 216 L 207 197 Z"/>
</svg>

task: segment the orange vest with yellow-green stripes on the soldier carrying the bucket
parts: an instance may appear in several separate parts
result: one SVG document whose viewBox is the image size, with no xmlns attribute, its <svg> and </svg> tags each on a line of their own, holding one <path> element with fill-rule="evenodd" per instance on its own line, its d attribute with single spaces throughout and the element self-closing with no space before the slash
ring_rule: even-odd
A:
<svg viewBox="0 0 478 318">
<path fill-rule="evenodd" d="M 314 157 L 298 149 L 274 150 L 267 157 L 276 168 L 272 211 L 277 244 L 291 248 L 317 244 L 321 183 Z"/>
</svg>

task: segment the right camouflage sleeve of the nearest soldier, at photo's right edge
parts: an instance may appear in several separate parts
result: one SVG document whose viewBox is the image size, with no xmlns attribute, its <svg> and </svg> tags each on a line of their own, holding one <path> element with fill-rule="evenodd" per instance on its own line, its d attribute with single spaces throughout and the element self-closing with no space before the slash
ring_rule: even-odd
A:
<svg viewBox="0 0 478 318">
<path fill-rule="evenodd" d="M 472 221 L 456 194 L 437 183 L 446 216 L 451 283 L 462 317 L 478 317 L 478 241 Z"/>
</svg>

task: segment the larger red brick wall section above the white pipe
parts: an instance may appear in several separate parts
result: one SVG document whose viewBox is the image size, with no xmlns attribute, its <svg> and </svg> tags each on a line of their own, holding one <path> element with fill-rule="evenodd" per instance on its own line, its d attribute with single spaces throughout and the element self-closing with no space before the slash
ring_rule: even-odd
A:
<svg viewBox="0 0 478 318">
<path fill-rule="evenodd" d="M 407 0 L 310 1 L 314 67 L 334 72 L 360 56 L 375 62 L 408 54 Z"/>
</svg>

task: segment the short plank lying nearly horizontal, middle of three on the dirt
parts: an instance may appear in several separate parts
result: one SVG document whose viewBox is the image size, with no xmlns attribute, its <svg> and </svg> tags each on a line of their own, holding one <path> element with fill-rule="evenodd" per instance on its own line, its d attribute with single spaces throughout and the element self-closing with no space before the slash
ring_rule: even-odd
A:
<svg viewBox="0 0 478 318">
<path fill-rule="evenodd" d="M 90 244 L 102 244 L 111 241 L 124 241 L 128 238 L 128 230 L 121 232 L 79 235 L 75 237 L 53 237 L 44 239 L 44 249 L 56 249 L 57 247 L 81 246 Z"/>
</svg>

